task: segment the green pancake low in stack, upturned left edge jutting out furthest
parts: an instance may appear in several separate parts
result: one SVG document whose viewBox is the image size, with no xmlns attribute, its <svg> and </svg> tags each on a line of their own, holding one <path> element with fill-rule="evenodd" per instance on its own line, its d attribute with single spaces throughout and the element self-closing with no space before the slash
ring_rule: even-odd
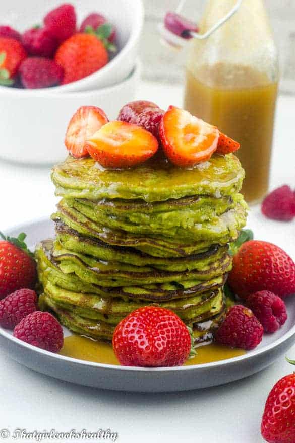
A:
<svg viewBox="0 0 295 443">
<path fill-rule="evenodd" d="M 64 274 L 52 260 L 53 241 L 47 240 L 37 245 L 36 258 L 39 280 L 43 287 L 47 282 L 70 291 L 94 293 L 102 297 L 121 298 L 125 301 L 138 300 L 161 302 L 195 296 L 223 286 L 226 274 L 207 281 L 188 280 L 180 283 L 162 283 L 141 286 L 103 287 L 82 281 L 75 274 Z"/>
</svg>

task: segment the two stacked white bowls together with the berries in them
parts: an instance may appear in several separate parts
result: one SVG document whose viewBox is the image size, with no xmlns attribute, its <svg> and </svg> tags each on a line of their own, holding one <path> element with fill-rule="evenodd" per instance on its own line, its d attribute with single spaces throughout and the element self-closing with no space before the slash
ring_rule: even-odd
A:
<svg viewBox="0 0 295 443">
<path fill-rule="evenodd" d="M 0 157 L 60 161 L 64 128 L 75 109 L 91 102 L 112 115 L 134 97 L 142 23 L 141 1 L 1 5 Z"/>
</svg>

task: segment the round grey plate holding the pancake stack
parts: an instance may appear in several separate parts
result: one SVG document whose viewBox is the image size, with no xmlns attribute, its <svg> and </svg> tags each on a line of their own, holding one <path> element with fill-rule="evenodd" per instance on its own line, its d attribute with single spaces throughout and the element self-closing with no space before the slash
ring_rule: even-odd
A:
<svg viewBox="0 0 295 443">
<path fill-rule="evenodd" d="M 28 235 L 28 244 L 35 244 L 54 235 L 48 219 L 32 221 L 10 230 L 17 236 Z M 169 368 L 138 368 L 99 364 L 44 351 L 12 336 L 0 328 L 0 344 L 19 363 L 57 379 L 94 388 L 118 391 L 167 392 L 207 388 L 250 376 L 285 355 L 295 343 L 295 304 L 286 302 L 288 320 L 275 334 L 265 335 L 262 343 L 240 357 L 214 363 Z M 65 334 L 70 332 L 64 328 Z"/>
</svg>

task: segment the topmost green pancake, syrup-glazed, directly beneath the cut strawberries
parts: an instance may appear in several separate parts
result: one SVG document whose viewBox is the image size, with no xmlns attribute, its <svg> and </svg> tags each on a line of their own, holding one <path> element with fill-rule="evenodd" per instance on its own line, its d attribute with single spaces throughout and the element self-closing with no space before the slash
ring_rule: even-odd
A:
<svg viewBox="0 0 295 443">
<path fill-rule="evenodd" d="M 153 158 L 124 170 L 105 170 L 92 158 L 69 156 L 53 168 L 51 177 L 56 195 L 62 197 L 163 201 L 191 195 L 231 195 L 240 191 L 244 175 L 233 154 L 215 154 L 192 169 Z"/>
</svg>

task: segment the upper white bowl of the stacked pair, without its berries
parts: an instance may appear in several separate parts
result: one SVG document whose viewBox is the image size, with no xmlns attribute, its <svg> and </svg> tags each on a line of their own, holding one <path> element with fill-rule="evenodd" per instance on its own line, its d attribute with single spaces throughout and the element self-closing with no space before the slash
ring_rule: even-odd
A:
<svg viewBox="0 0 295 443">
<path fill-rule="evenodd" d="M 9 24 L 20 31 L 24 31 L 42 22 L 45 13 L 63 3 L 63 0 L 10 0 L 1 2 L 1 23 Z M 114 85 L 126 79 L 131 73 L 138 54 L 138 44 L 141 35 L 144 9 L 142 0 L 111 0 L 97 2 L 96 0 L 71 0 L 75 6 L 80 26 L 82 20 L 91 12 L 105 15 L 116 27 L 117 46 L 119 52 L 99 71 L 84 79 L 63 86 L 44 88 L 42 91 L 73 92 L 103 88 Z M 6 87 L 0 86 L 0 91 Z M 28 90 L 20 90 L 26 95 Z"/>
</svg>

